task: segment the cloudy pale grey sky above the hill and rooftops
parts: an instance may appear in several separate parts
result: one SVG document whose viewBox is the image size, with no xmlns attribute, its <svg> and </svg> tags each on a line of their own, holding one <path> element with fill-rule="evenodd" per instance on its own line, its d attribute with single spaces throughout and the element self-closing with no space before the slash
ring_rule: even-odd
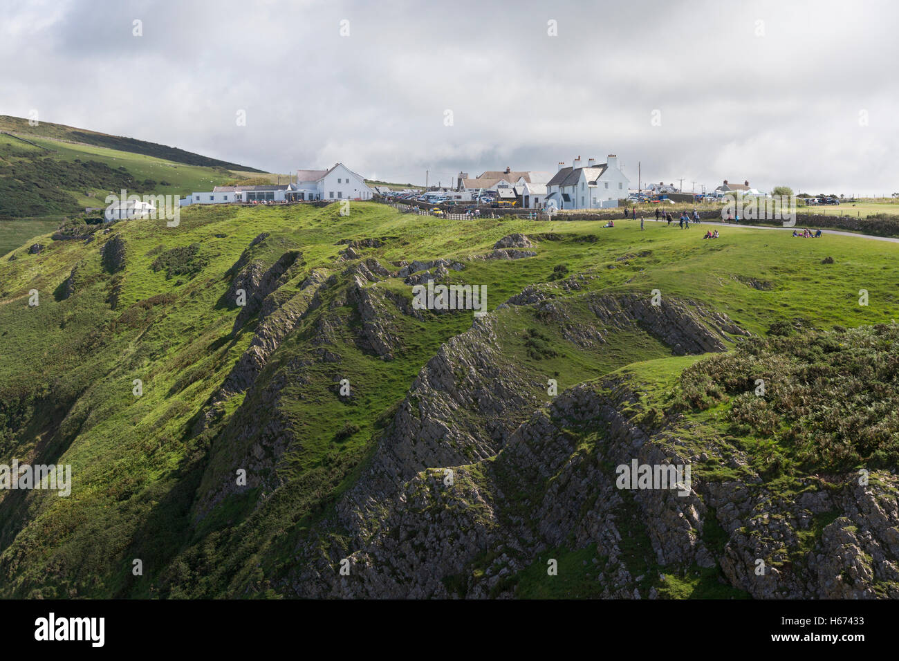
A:
<svg viewBox="0 0 899 661">
<path fill-rule="evenodd" d="M 895 2 L 0 0 L 0 114 L 396 183 L 899 192 Z M 893 64 L 890 64 L 893 63 Z M 245 120 L 245 121 L 242 121 Z"/>
</svg>

